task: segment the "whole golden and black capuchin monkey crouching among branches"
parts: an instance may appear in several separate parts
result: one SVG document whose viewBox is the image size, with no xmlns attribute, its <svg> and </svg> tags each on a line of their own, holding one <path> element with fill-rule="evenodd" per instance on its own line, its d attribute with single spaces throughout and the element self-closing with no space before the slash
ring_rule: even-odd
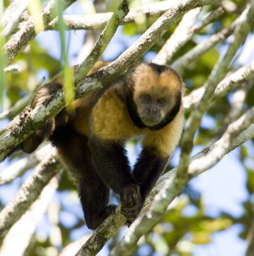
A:
<svg viewBox="0 0 254 256">
<path fill-rule="evenodd" d="M 98 62 L 90 73 L 106 64 Z M 62 84 L 60 75 L 53 78 L 20 118 L 48 104 Z M 110 85 L 75 100 L 74 117 L 63 109 L 20 148 L 31 153 L 45 138 L 57 148 L 77 181 L 88 228 L 96 229 L 115 210 L 108 205 L 110 189 L 120 195 L 130 224 L 179 143 L 183 91 L 181 77 L 170 67 L 138 62 Z M 134 137 L 142 139 L 142 151 L 131 170 L 124 145 Z"/>
</svg>

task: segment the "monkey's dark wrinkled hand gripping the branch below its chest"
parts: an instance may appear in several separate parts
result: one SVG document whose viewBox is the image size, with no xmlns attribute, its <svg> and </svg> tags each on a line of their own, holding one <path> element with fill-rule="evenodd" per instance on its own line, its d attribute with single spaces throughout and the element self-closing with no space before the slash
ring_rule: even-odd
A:
<svg viewBox="0 0 254 256">
<path fill-rule="evenodd" d="M 122 203 L 121 213 L 128 219 L 127 223 L 130 224 L 137 218 L 144 203 L 139 185 L 126 185 L 120 194 L 120 199 Z"/>
</svg>

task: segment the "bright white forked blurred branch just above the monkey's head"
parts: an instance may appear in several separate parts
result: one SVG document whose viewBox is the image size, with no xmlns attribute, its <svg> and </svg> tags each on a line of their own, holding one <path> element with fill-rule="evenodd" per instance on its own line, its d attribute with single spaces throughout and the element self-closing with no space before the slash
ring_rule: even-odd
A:
<svg viewBox="0 0 254 256">
<path fill-rule="evenodd" d="M 153 62 L 157 64 L 167 64 L 170 62 L 175 53 L 184 44 L 186 44 L 196 32 L 207 26 L 209 23 L 213 22 L 224 12 L 222 7 L 219 7 L 216 11 L 209 14 L 204 20 L 194 25 L 194 22 L 196 21 L 200 11 L 201 9 L 197 8 L 191 10 L 183 16 L 182 21 L 179 23 L 174 33 L 167 40 L 162 49 L 160 49 Z"/>
</svg>

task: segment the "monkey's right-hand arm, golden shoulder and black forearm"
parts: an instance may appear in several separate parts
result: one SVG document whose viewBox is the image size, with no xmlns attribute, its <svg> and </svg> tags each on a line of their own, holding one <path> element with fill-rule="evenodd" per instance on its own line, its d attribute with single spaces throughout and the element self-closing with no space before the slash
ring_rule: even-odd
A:
<svg viewBox="0 0 254 256">
<path fill-rule="evenodd" d="M 143 201 L 165 170 L 168 160 L 179 143 L 183 119 L 184 114 L 181 109 L 172 122 L 160 130 L 150 131 L 143 141 L 143 150 L 133 170 L 134 178 L 140 185 Z"/>
</svg>

